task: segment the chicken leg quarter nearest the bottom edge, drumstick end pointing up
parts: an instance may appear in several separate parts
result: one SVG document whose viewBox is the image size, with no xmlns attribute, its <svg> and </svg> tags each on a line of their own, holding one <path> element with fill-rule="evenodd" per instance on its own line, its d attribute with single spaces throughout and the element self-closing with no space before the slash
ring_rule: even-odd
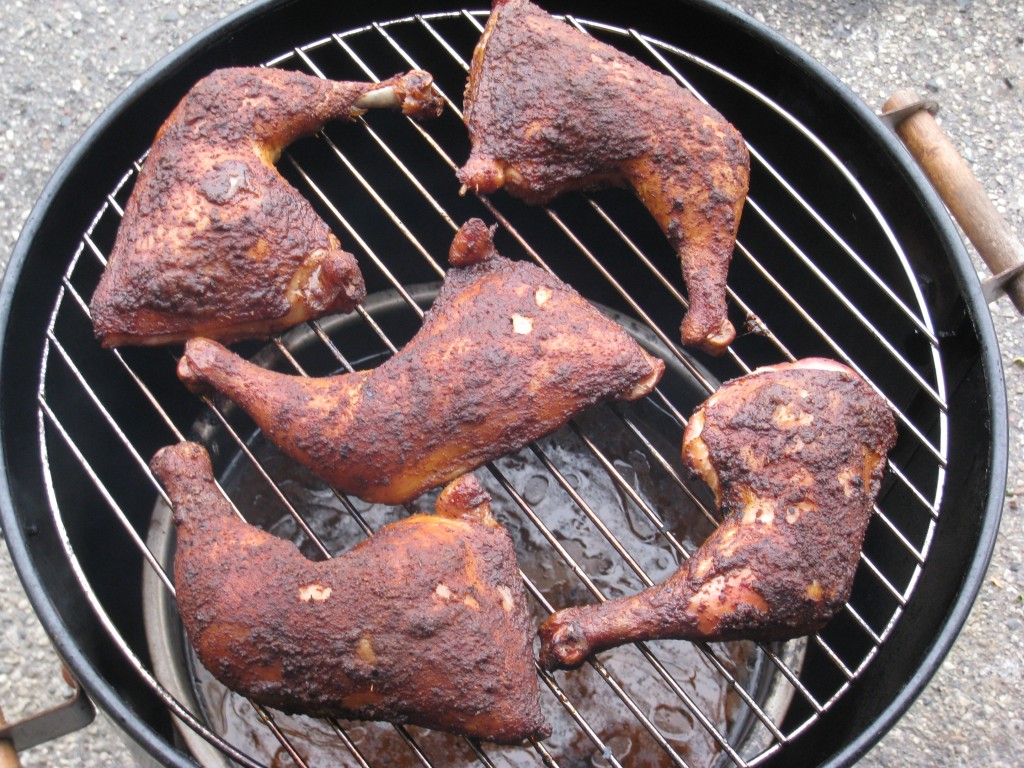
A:
<svg viewBox="0 0 1024 768">
<path fill-rule="evenodd" d="M 435 514 L 313 562 L 233 513 L 202 446 L 169 446 L 151 466 L 174 512 L 181 621 L 224 685 L 314 717 L 503 743 L 548 734 L 515 549 L 472 475 Z"/>
</svg>

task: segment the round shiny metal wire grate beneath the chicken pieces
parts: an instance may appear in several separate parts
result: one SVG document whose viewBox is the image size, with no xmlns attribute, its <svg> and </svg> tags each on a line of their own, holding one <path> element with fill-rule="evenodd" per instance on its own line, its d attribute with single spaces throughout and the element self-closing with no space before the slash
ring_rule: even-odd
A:
<svg viewBox="0 0 1024 768">
<path fill-rule="evenodd" d="M 571 742 L 571 751 L 566 746 L 559 752 L 563 744 L 554 742 L 550 748 L 535 742 L 519 753 L 469 741 L 460 746 L 467 763 L 487 766 L 577 765 L 581 756 L 595 765 L 617 766 L 631 750 L 639 749 L 653 750 L 668 765 L 699 765 L 687 743 L 689 736 L 680 736 L 679 728 L 670 722 L 682 713 L 692 732 L 707 742 L 710 759 L 723 765 L 758 765 L 783 751 L 797 734 L 814 727 L 820 713 L 830 708 L 870 664 L 911 598 L 928 557 L 945 479 L 946 404 L 938 340 L 920 288 L 907 256 L 855 174 L 782 105 L 713 62 L 668 43 L 633 30 L 569 17 L 566 20 L 584 32 L 678 78 L 748 136 L 753 160 L 751 196 L 729 291 L 730 312 L 734 319 L 745 321 L 737 327 L 745 326 L 748 333 L 719 360 L 691 355 L 674 341 L 686 306 L 678 265 L 637 201 L 623 193 L 608 193 L 573 196 L 540 209 L 525 208 L 502 194 L 493 199 L 458 197 L 453 171 L 468 154 L 461 124 L 461 94 L 472 46 L 485 16 L 485 11 L 462 11 L 381 23 L 333 34 L 268 62 L 353 80 L 377 80 L 403 69 L 426 69 L 434 73 L 447 110 L 439 121 L 422 126 L 393 116 L 360 119 L 356 126 L 332 125 L 315 139 L 302 141 L 286 154 L 282 171 L 325 214 L 343 246 L 356 254 L 370 291 L 375 296 L 387 292 L 387 296 L 397 297 L 387 304 L 397 309 L 385 311 L 381 302 L 371 300 L 344 323 L 309 324 L 303 331 L 275 339 L 269 349 L 272 354 L 260 354 L 294 373 L 323 375 L 354 370 L 366 365 L 372 354 L 380 359 L 379 355 L 393 353 L 415 332 L 424 302 L 429 300 L 422 284 L 435 283 L 443 275 L 441 263 L 432 254 L 446 253 L 447 243 L 466 218 L 480 215 L 498 221 L 499 249 L 505 255 L 532 259 L 620 316 L 636 318 L 638 337 L 670 364 L 670 373 L 648 404 L 637 409 L 601 407 L 605 421 L 600 425 L 579 419 L 552 440 L 531 446 L 516 459 L 544 473 L 578 521 L 574 530 L 584 531 L 609 553 L 608 557 L 617 558 L 631 574 L 633 591 L 660 581 L 666 565 L 654 572 L 657 566 L 649 557 L 634 551 L 636 538 L 607 521 L 608 510 L 601 506 L 603 497 L 588 498 L 571 472 L 560 464 L 561 446 L 572 443 L 574 451 L 586 455 L 600 470 L 620 495 L 622 509 L 643 526 L 643 537 L 656 540 L 671 566 L 688 557 L 693 542 L 674 524 L 676 511 L 658 504 L 631 474 L 623 457 L 609 452 L 604 425 L 612 425 L 611 431 L 620 440 L 616 444 L 637 452 L 652 476 L 672 486 L 699 516 L 714 522 L 708 494 L 685 477 L 678 459 L 685 414 L 720 381 L 765 362 L 823 354 L 857 370 L 893 407 L 901 437 L 874 510 L 853 596 L 840 616 L 809 638 L 806 647 L 752 645 L 744 651 L 750 654 L 746 666 L 757 674 L 737 669 L 736 658 L 730 655 L 733 651 L 724 644 L 696 644 L 694 652 L 703 665 L 701 674 L 728 692 L 724 719 L 721 713 L 706 712 L 694 694 L 702 685 L 700 681 L 681 679 L 674 646 L 638 643 L 590 663 L 588 674 L 601 687 L 601 696 L 611 702 L 610 722 L 606 714 L 593 712 L 589 703 L 571 694 L 569 676 L 583 673 L 563 677 L 539 671 L 542 690 L 550 693 L 546 706 L 555 702 L 559 717 L 578 729 L 579 738 Z M 764 137 L 765 145 L 759 140 L 763 132 L 753 120 L 743 119 L 759 112 L 772 116 L 773 131 L 780 136 Z M 794 162 L 820 167 L 822 187 L 828 189 L 829 198 L 839 190 L 835 197 L 841 199 L 843 207 L 825 199 L 821 187 L 799 188 L 788 180 Z M 160 588 L 173 595 L 166 563 L 151 552 L 144 534 L 151 500 L 163 497 L 146 461 L 154 440 L 164 444 L 184 439 L 199 413 L 197 403 L 179 389 L 175 359 L 167 350 L 98 350 L 91 340 L 87 307 L 138 167 L 130 169 L 106 196 L 71 259 L 56 299 L 39 391 L 39 438 L 46 482 L 80 586 L 122 653 L 189 728 L 238 762 L 257 765 L 258 761 L 247 754 L 248 746 L 232 743 L 230 734 L 217 732 L 208 724 L 208 713 L 196 711 L 168 690 L 154 673 L 138 638 L 110 617 L 104 598 L 93 587 L 94 581 L 104 579 L 92 562 L 95 555 L 89 563 L 80 561 L 77 553 L 86 540 L 77 524 L 66 524 L 74 500 L 62 498 L 60 478 L 50 470 L 51 452 L 73 456 L 102 500 L 102 508 L 94 513 L 117 518 L 127 546 L 141 554 Z M 100 195 L 97 193 L 97 199 Z M 112 397 L 109 385 L 97 383 L 100 377 L 110 377 L 112 369 L 117 370 L 125 391 L 131 392 L 123 402 L 118 395 Z M 315 521 L 307 520 L 306 511 L 291 501 L 278 469 L 254 446 L 251 423 L 213 399 L 205 399 L 203 408 L 203 419 L 215 425 L 222 436 L 217 445 L 222 452 L 239 455 L 249 467 L 247 471 L 261 478 L 270 500 L 267 503 L 281 506 L 297 526 L 297 536 L 311 543 L 321 556 L 336 552 L 325 543 L 325 534 Z M 141 409 L 144 414 L 137 416 L 141 412 L 132 409 Z M 69 410 L 76 410 L 76 426 L 70 424 Z M 88 412 L 86 426 L 78 426 L 82 410 Z M 652 426 L 654 421 L 657 424 Z M 666 434 L 673 436 L 674 443 Z M 669 444 L 672 446 L 667 450 Z M 489 466 L 488 471 L 493 495 L 500 497 L 496 505 L 505 511 L 504 517 L 499 516 L 514 523 L 520 542 L 529 537 L 543 543 L 547 548 L 544 559 L 557 563 L 573 581 L 571 596 L 575 601 L 606 599 L 608 585 L 590 572 L 571 531 L 560 529 L 535 508 L 530 495 L 512 479 L 504 460 Z M 154 493 L 142 499 L 120 498 L 112 489 L 113 472 L 138 473 Z M 342 495 L 333 498 L 332 503 L 354 521 L 356 529 L 372 534 L 376 527 L 374 510 Z M 122 558 L 118 549 L 122 544 L 112 538 L 99 546 L 106 548 L 105 557 L 113 562 Z M 532 565 L 523 562 L 523 579 L 538 614 L 563 607 L 569 595 L 546 590 Z M 622 588 L 612 591 L 615 589 Z M 637 665 L 641 673 L 624 672 Z M 770 672 L 771 695 L 790 702 L 784 719 L 765 703 L 768 694 L 758 682 L 765 670 Z M 664 707 L 649 706 L 649 688 L 656 689 Z M 302 734 L 296 735 L 290 721 L 283 726 L 280 715 L 260 707 L 254 708 L 251 718 L 258 727 L 268 729 L 276 748 L 296 764 L 314 764 L 302 743 Z M 616 718 L 620 722 L 632 718 L 649 744 L 627 744 L 617 735 Z M 365 749 L 360 735 L 352 735 L 353 729 L 361 733 L 362 726 L 330 722 L 327 729 L 343 756 L 339 760 L 362 766 L 388 764 Z M 401 726 L 385 730 L 406 751 L 411 764 L 453 764 L 450 756 L 435 754 L 431 734 Z"/>
</svg>

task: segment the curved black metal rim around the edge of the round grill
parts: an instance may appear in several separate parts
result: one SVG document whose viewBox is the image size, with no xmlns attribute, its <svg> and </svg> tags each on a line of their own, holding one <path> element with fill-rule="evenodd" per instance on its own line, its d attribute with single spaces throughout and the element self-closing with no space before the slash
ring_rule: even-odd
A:
<svg viewBox="0 0 1024 768">
<path fill-rule="evenodd" d="M 449 4 L 441 2 L 437 5 Z M 483 4 L 481 3 L 481 5 Z M 147 70 L 108 108 L 76 143 L 54 172 L 27 219 L 22 236 L 11 253 L 3 285 L 0 288 L 0 334 L 3 338 L 3 346 L 0 348 L 2 391 L 9 389 L 8 381 L 12 376 L 11 372 L 17 369 L 19 364 L 23 364 L 24 367 L 24 349 L 26 347 L 42 348 L 45 339 L 45 322 L 39 328 L 28 329 L 32 333 L 26 333 L 27 312 L 13 314 L 16 323 L 11 323 L 12 309 L 16 312 L 19 303 L 31 301 L 32 295 L 34 295 L 33 291 L 39 288 L 29 287 L 26 285 L 28 281 L 22 280 L 26 265 L 33 257 L 36 262 L 55 258 L 57 263 L 61 265 L 61 268 L 54 272 L 54 276 L 58 279 L 58 275 L 63 272 L 67 255 L 75 250 L 79 233 L 85 230 L 95 215 L 94 202 L 83 206 L 82 202 L 77 200 L 81 197 L 78 191 L 87 187 L 108 189 L 116 185 L 123 165 L 106 163 L 103 162 L 104 159 L 112 154 L 118 156 L 124 154 L 128 158 L 141 155 L 145 146 L 148 145 L 150 137 L 155 132 L 156 127 L 170 111 L 170 106 L 162 109 L 163 104 L 173 105 L 183 93 L 183 89 L 179 90 L 177 86 L 182 83 L 190 85 L 212 67 L 245 63 L 250 62 L 249 59 L 258 58 L 260 54 L 257 53 L 254 56 L 251 51 L 262 50 L 262 48 L 258 42 L 253 44 L 253 36 L 273 41 L 273 46 L 276 49 L 285 49 L 281 44 L 282 27 L 276 22 L 276 15 L 291 12 L 289 20 L 296 24 L 288 28 L 288 34 L 300 38 L 300 42 L 311 39 L 317 34 L 315 31 L 319 31 L 322 34 L 323 24 L 309 20 L 325 17 L 309 12 L 308 6 L 314 5 L 316 2 L 302 3 L 301 0 L 258 0 L 253 5 L 226 17 Z M 888 730 L 934 675 L 967 618 L 991 557 L 1001 515 L 1002 489 L 1006 486 L 1009 452 L 1007 395 L 1005 387 L 1001 385 L 1004 381 L 1002 370 L 994 329 L 981 296 L 980 286 L 971 261 L 937 195 L 928 184 L 923 173 L 910 162 L 902 144 L 877 121 L 867 106 L 854 96 L 838 78 L 776 33 L 739 11 L 716 2 L 716 0 L 667 1 L 653 3 L 653 5 L 664 5 L 667 12 L 671 12 L 671 6 L 693 6 L 702 13 L 712 13 L 725 19 L 737 36 L 739 33 L 745 32 L 752 37 L 760 38 L 759 44 L 770 44 L 773 50 L 780 54 L 780 58 L 784 59 L 784 63 L 803 70 L 803 74 L 807 78 L 827 90 L 835 100 L 836 106 L 842 106 L 857 123 L 859 130 L 869 134 L 881 144 L 882 148 L 887 151 L 890 165 L 900 171 L 903 177 L 902 181 L 905 182 L 908 189 L 914 193 L 922 211 L 930 219 L 935 236 L 946 246 L 946 251 L 950 256 L 948 267 L 955 279 L 955 288 L 959 292 L 959 296 L 963 297 L 969 313 L 968 319 L 965 319 L 964 323 L 970 323 L 973 333 L 977 337 L 978 360 L 982 365 L 983 379 L 987 389 L 987 402 L 985 404 L 989 409 L 990 417 L 988 424 L 990 435 L 987 444 L 988 461 L 986 463 L 988 477 L 987 483 L 981 483 L 987 485 L 988 496 L 978 528 L 977 546 L 970 559 L 970 567 L 963 574 L 961 586 L 956 591 L 956 598 L 949 604 L 939 631 L 928 644 L 928 653 L 921 659 L 915 673 L 906 685 L 894 695 L 890 705 L 863 728 L 860 735 L 831 756 L 829 761 L 829 764 L 847 764 L 847 761 L 855 760 L 863 755 Z M 297 14 L 295 12 L 300 6 L 306 8 L 304 22 L 303 13 Z M 372 11 L 375 15 L 384 15 L 386 12 L 382 9 Z M 599 15 L 600 9 L 589 8 L 588 13 Z M 397 14 L 394 15 L 397 16 Z M 275 18 L 274 24 L 268 22 L 271 16 Z M 307 26 L 303 27 L 302 24 Z M 256 60 L 251 62 L 257 63 Z M 175 88 L 161 88 L 168 83 L 175 85 Z M 184 87 L 186 88 L 187 85 Z M 164 92 L 163 95 L 161 95 L 161 90 Z M 168 98 L 166 95 L 168 92 L 176 95 Z M 139 119 L 140 115 L 142 116 L 141 120 Z M 115 146 L 117 147 L 116 152 L 113 151 Z M 131 148 L 126 151 L 125 147 Z M 62 234 L 63 232 L 70 232 L 71 237 Z M 52 247 L 52 245 L 59 246 L 68 243 L 72 245 L 65 248 Z M 56 254 L 56 256 L 47 256 L 47 254 Z M 43 286 L 43 288 L 48 287 L 49 284 Z M 26 293 L 29 293 L 28 297 L 25 295 Z M 49 295 L 47 294 L 47 296 Z M 48 309 L 44 315 L 47 312 Z M 19 327 L 20 336 L 14 334 L 12 337 L 12 325 Z M 36 347 L 31 346 L 33 341 L 37 342 Z M 3 365 L 4 362 L 7 365 Z M 18 373 L 17 375 L 23 376 L 24 374 Z M 38 381 L 34 379 L 33 383 L 36 384 Z M 36 387 L 33 386 L 32 391 L 35 390 Z M 30 415 L 27 423 L 33 423 L 34 416 L 34 414 Z M 59 655 L 80 679 L 85 689 L 97 700 L 123 732 L 129 735 L 132 740 L 140 742 L 154 757 L 158 757 L 168 764 L 190 765 L 191 763 L 188 761 L 181 762 L 181 754 L 166 744 L 163 737 L 148 723 L 125 705 L 115 687 L 109 683 L 102 673 L 83 652 L 79 641 L 73 637 L 60 611 L 50 599 L 50 593 L 47 591 L 41 571 L 37 566 L 37 558 L 33 556 L 32 547 L 30 547 L 28 539 L 24 537 L 22 520 L 13 503 L 16 498 L 23 498 L 27 493 L 25 486 L 29 480 L 19 480 L 11 473 L 9 457 L 15 452 L 7 449 L 7 436 L 11 434 L 6 428 L 11 422 L 9 407 L 4 407 L 2 418 L 5 429 L 3 438 L 0 439 L 0 462 L 2 462 L 5 471 L 0 475 L 0 523 L 2 523 L 6 534 L 7 546 L 11 551 L 15 568 L 44 629 L 54 642 Z"/>
</svg>

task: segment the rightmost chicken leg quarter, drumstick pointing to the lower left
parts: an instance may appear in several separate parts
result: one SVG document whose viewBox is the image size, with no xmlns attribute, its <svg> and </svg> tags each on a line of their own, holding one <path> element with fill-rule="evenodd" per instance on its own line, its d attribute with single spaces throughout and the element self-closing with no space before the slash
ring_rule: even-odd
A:
<svg viewBox="0 0 1024 768">
<path fill-rule="evenodd" d="M 857 374 L 808 358 L 758 369 L 701 404 L 683 461 L 726 517 L 667 582 L 541 627 L 541 664 L 572 668 L 637 640 L 781 640 L 846 602 L 886 457 L 892 412 Z"/>
</svg>

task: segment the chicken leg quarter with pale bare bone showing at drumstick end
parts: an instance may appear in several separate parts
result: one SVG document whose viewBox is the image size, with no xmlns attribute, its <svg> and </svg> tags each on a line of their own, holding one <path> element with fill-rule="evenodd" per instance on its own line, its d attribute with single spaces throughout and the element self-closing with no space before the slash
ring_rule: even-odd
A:
<svg viewBox="0 0 1024 768">
<path fill-rule="evenodd" d="M 161 126 L 90 303 L 105 347 L 265 338 L 351 311 L 355 258 L 274 168 L 285 147 L 369 109 L 434 117 L 425 72 L 349 83 L 275 69 L 218 70 Z"/>
</svg>

